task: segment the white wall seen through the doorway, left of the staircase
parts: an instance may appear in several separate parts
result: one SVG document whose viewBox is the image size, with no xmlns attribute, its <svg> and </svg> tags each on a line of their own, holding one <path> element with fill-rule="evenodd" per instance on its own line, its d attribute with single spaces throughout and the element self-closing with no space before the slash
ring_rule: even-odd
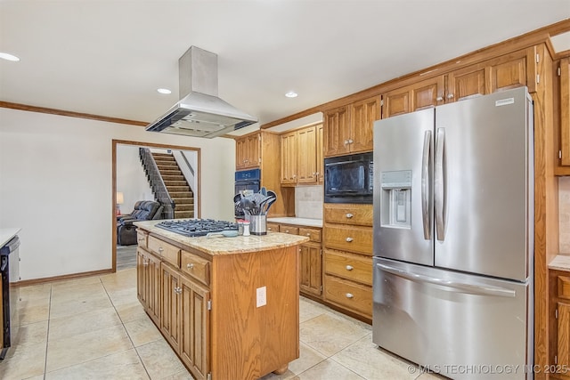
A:
<svg viewBox="0 0 570 380">
<path fill-rule="evenodd" d="M 122 214 L 129 214 L 139 200 L 155 200 L 139 158 L 138 145 L 117 145 L 117 191 L 123 193 Z"/>
</svg>

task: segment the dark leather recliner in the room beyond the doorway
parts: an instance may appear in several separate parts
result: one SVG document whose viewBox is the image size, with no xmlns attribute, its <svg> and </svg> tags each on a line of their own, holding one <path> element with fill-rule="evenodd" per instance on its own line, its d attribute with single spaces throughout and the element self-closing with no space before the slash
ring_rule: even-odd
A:
<svg viewBox="0 0 570 380">
<path fill-rule="evenodd" d="M 131 214 L 117 218 L 117 242 L 120 246 L 136 244 L 136 226 L 133 222 L 160 219 L 164 207 L 153 200 L 139 200 Z"/>
</svg>

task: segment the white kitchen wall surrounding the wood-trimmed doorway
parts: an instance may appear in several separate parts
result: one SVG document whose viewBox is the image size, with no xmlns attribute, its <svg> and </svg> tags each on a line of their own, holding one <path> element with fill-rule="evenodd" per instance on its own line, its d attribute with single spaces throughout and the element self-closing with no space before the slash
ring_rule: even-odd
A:
<svg viewBox="0 0 570 380">
<path fill-rule="evenodd" d="M 201 150 L 202 217 L 233 220 L 235 143 L 0 109 L 0 227 L 20 227 L 21 279 L 110 269 L 113 139 Z"/>
</svg>

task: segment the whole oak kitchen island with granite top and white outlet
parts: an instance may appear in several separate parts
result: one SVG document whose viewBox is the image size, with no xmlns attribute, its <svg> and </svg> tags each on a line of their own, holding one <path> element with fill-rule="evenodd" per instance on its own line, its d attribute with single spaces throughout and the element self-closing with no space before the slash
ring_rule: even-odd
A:
<svg viewBox="0 0 570 380">
<path fill-rule="evenodd" d="M 137 294 L 197 379 L 283 373 L 299 356 L 298 245 L 308 238 L 189 238 L 137 228 Z"/>
</svg>

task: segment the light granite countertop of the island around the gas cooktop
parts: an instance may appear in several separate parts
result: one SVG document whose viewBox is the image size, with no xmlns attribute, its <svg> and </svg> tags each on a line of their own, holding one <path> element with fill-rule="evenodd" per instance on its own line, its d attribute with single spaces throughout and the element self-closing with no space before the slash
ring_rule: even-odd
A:
<svg viewBox="0 0 570 380">
<path fill-rule="evenodd" d="M 288 233 L 267 232 L 267 235 L 237 236 L 234 238 L 195 238 L 186 237 L 169 230 L 155 227 L 162 221 L 134 222 L 134 225 L 142 230 L 148 230 L 152 234 L 163 236 L 186 247 L 198 249 L 208 255 L 236 255 L 249 252 L 265 251 L 284 247 L 297 246 L 309 241 L 304 236 L 290 235 Z"/>
</svg>

